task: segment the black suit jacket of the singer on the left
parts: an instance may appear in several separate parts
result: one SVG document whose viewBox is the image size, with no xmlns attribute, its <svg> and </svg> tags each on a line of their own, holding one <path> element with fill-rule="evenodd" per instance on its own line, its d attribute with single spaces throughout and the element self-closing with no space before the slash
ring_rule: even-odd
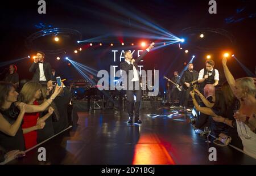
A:
<svg viewBox="0 0 256 176">
<path fill-rule="evenodd" d="M 48 62 L 43 63 L 43 68 L 44 68 L 44 76 L 46 76 L 46 80 L 52 80 L 52 67 Z M 39 82 L 40 79 L 40 70 L 39 70 L 39 63 L 33 62 L 32 65 L 30 66 L 30 72 L 33 72 L 33 81 Z"/>
</svg>

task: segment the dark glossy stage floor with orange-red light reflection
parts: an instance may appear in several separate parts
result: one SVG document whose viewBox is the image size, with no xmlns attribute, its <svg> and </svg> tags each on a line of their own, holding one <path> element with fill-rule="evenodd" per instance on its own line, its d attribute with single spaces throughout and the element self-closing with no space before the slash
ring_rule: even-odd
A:
<svg viewBox="0 0 256 176">
<path fill-rule="evenodd" d="M 141 110 L 141 119 L 127 125 L 126 111 L 80 112 L 76 129 L 40 145 L 47 161 L 38 161 L 35 148 L 9 164 L 256 164 L 232 147 L 205 143 L 176 110 Z M 209 161 L 209 147 L 216 147 L 217 161 Z"/>
</svg>

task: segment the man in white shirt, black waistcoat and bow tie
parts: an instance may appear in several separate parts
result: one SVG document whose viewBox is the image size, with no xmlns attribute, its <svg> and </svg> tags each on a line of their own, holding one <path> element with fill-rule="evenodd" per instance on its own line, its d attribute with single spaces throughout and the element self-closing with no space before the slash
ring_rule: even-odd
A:
<svg viewBox="0 0 256 176">
<path fill-rule="evenodd" d="M 205 62 L 205 67 L 199 72 L 198 82 L 200 83 L 200 92 L 204 93 L 204 87 L 207 84 L 212 84 L 214 87 L 218 85 L 218 81 L 220 80 L 218 70 L 214 69 L 214 61 L 212 59 L 208 59 Z"/>
</svg>

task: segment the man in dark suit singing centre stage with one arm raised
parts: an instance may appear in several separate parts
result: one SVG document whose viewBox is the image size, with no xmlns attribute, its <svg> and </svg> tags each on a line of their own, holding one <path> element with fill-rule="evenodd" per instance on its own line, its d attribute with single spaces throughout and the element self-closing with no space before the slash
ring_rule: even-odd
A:
<svg viewBox="0 0 256 176">
<path fill-rule="evenodd" d="M 141 59 L 146 55 L 151 48 L 154 48 L 154 42 L 144 51 L 137 59 L 133 58 L 133 53 L 131 53 L 130 50 L 125 51 L 125 62 L 120 63 L 120 67 L 122 71 L 125 71 L 127 77 L 126 77 L 126 83 L 127 83 L 127 111 L 129 114 L 129 120 L 128 123 L 133 123 L 133 115 L 135 117 L 134 122 L 135 123 L 142 123 L 139 119 L 139 108 L 141 105 L 141 85 L 140 78 L 139 78 L 139 69 L 138 69 L 138 62 L 141 61 Z M 133 78 L 130 78 L 129 71 L 131 71 L 131 75 L 133 75 Z M 130 85 L 129 85 L 130 81 Z M 138 85 L 138 86 L 136 86 Z M 132 87 L 131 87 L 132 86 Z M 129 88 L 130 87 L 130 88 Z M 136 95 L 136 102 L 134 107 L 134 94 Z"/>
</svg>

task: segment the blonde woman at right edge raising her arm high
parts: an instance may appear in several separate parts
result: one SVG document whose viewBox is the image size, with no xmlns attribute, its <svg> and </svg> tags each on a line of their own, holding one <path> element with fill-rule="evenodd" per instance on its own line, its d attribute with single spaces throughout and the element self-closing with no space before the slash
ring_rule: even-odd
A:
<svg viewBox="0 0 256 176">
<path fill-rule="evenodd" d="M 237 132 L 243 143 L 243 151 L 249 156 L 256 158 L 256 134 L 255 134 L 255 114 L 256 114 L 256 88 L 253 78 L 234 79 L 226 65 L 227 59 L 222 59 L 222 66 L 226 80 L 232 92 L 240 101 L 240 109 L 234 114 L 237 119 Z"/>
</svg>

